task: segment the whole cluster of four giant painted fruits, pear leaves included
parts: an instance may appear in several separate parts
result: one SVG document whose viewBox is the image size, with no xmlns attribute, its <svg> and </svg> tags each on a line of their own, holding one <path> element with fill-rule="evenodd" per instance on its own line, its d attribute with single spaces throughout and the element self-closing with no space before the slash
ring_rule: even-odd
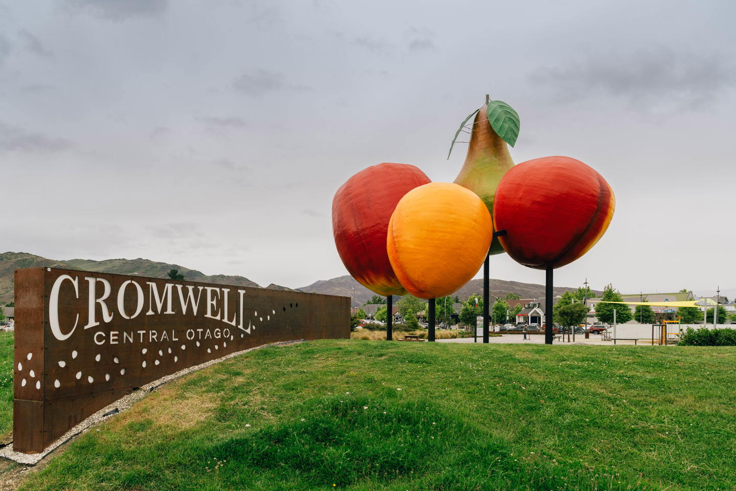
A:
<svg viewBox="0 0 736 491">
<path fill-rule="evenodd" d="M 606 231 L 615 197 L 601 174 L 569 157 L 514 166 L 507 145 L 516 143 L 519 117 L 506 103 L 486 96 L 460 125 L 450 152 L 473 116 L 455 183 L 430 183 L 417 167 L 381 163 L 335 194 L 340 258 L 372 292 L 444 297 L 473 278 L 488 254 L 503 250 L 546 269 L 551 291 L 552 269 L 575 261 Z"/>
</svg>

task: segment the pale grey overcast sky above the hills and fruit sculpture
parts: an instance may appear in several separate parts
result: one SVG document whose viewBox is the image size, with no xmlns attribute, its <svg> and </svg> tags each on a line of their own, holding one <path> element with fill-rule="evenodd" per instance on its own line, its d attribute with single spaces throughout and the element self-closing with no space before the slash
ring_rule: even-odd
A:
<svg viewBox="0 0 736 491">
<path fill-rule="evenodd" d="M 0 0 L 0 252 L 345 275 L 335 191 L 381 162 L 454 180 L 450 141 L 489 93 L 520 115 L 514 162 L 568 155 L 615 191 L 556 285 L 733 296 L 735 18 L 730 0 Z"/>
</svg>

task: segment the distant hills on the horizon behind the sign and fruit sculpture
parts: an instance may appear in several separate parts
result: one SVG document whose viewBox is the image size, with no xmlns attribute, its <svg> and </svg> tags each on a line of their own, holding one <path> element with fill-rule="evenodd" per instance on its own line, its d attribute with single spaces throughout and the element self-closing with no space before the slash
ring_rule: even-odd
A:
<svg viewBox="0 0 736 491">
<path fill-rule="evenodd" d="M 243 276 L 212 275 L 208 276 L 196 269 L 188 269 L 178 264 L 167 264 L 149 259 L 107 259 L 105 261 L 91 261 L 89 259 L 70 259 L 58 261 L 55 259 L 42 258 L 27 252 L 2 252 L 0 253 L 0 305 L 13 301 L 13 277 L 15 269 L 32 267 L 54 267 L 65 269 L 79 269 L 81 271 L 116 273 L 118 275 L 147 276 L 150 278 L 168 278 L 171 269 L 177 269 L 184 278 L 189 281 L 201 281 L 202 283 L 219 283 L 223 285 L 250 286 L 261 288 L 258 283 L 244 278 Z M 286 286 L 270 284 L 267 289 L 291 290 Z M 364 305 L 370 300 L 374 293 L 353 279 L 350 275 L 339 276 L 331 280 L 319 280 L 299 289 L 307 293 L 320 293 L 327 295 L 339 295 L 352 297 L 353 305 Z M 563 294 L 566 290 L 574 290 L 570 287 L 556 286 L 553 291 L 555 295 Z M 518 281 L 489 280 L 489 295 L 491 297 L 506 297 L 513 292 L 522 298 L 538 298 L 545 295 L 545 286 L 534 283 L 520 283 Z M 596 293 L 602 293 L 595 291 Z M 462 300 L 472 294 L 483 294 L 483 280 L 470 280 L 461 289 L 455 292 Z"/>
</svg>

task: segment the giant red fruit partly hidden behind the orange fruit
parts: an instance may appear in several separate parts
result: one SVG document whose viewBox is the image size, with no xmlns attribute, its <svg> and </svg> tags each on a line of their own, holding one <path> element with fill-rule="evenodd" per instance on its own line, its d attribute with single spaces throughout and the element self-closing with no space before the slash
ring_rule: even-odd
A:
<svg viewBox="0 0 736 491">
<path fill-rule="evenodd" d="M 335 193 L 332 230 L 337 252 L 350 275 L 376 294 L 405 295 L 389 262 L 389 220 L 408 191 L 430 183 L 418 167 L 379 163 L 358 172 Z"/>
</svg>

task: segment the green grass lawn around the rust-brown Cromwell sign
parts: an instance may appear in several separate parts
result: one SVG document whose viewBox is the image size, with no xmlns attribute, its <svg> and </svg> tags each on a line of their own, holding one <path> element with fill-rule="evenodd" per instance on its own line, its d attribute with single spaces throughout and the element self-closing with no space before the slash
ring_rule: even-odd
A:
<svg viewBox="0 0 736 491">
<path fill-rule="evenodd" d="M 733 347 L 268 347 L 163 386 L 23 489 L 736 490 L 735 370 Z"/>
</svg>

